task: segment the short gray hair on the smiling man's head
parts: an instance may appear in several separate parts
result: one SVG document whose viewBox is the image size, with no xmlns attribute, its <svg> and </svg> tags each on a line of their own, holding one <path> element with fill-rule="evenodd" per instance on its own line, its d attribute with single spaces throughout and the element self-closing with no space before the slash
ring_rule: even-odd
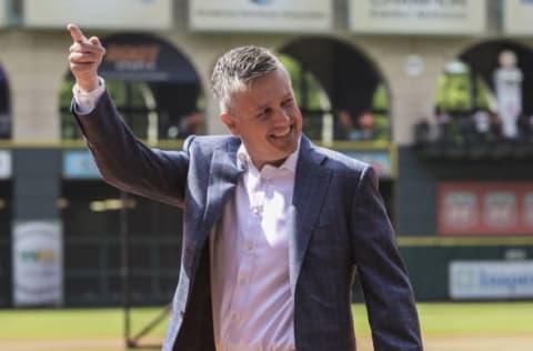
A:
<svg viewBox="0 0 533 351">
<path fill-rule="evenodd" d="M 249 89 L 254 79 L 279 68 L 284 69 L 280 60 L 261 47 L 240 47 L 220 57 L 211 76 L 211 89 L 221 112 L 231 110 L 231 99 L 235 92 Z"/>
</svg>

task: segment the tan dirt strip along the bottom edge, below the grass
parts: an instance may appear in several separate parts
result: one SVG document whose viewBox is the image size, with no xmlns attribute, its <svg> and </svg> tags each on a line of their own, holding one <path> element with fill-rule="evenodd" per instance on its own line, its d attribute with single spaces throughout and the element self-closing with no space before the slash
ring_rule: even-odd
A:
<svg viewBox="0 0 533 351">
<path fill-rule="evenodd" d="M 424 337 L 426 351 L 527 351 L 533 349 L 532 335 L 515 337 Z M 121 351 L 124 343 L 115 338 L 93 339 L 11 339 L 0 340 L 0 350 L 6 351 Z M 140 351 L 139 349 L 137 349 Z M 152 349 L 153 350 L 153 349 Z M 358 351 L 372 351 L 370 338 L 358 339 Z"/>
</svg>

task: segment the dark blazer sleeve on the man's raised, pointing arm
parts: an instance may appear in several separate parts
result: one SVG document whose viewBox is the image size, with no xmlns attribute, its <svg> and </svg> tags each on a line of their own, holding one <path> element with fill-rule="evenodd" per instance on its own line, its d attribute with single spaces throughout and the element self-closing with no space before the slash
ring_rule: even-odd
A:
<svg viewBox="0 0 533 351">
<path fill-rule="evenodd" d="M 189 169 L 189 138 L 183 151 L 151 149 L 139 141 L 123 122 L 104 92 L 94 110 L 73 113 L 105 182 L 123 191 L 173 205 L 183 204 Z"/>
</svg>

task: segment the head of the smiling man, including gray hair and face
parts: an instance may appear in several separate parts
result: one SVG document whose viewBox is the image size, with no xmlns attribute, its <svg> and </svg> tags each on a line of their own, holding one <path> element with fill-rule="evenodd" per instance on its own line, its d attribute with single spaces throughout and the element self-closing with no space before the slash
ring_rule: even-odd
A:
<svg viewBox="0 0 533 351">
<path fill-rule="evenodd" d="M 233 71 L 238 57 L 242 72 Z M 258 169 L 278 167 L 296 151 L 302 113 L 278 59 L 257 47 L 231 50 L 217 63 L 211 83 L 221 101 L 220 119 L 241 138 Z"/>
</svg>

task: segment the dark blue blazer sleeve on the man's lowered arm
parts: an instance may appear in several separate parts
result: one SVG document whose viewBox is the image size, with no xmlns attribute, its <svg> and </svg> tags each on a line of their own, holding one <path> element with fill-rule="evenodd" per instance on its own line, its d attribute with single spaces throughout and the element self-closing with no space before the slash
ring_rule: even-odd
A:
<svg viewBox="0 0 533 351">
<path fill-rule="evenodd" d="M 375 350 L 422 350 L 413 291 L 371 167 L 352 203 L 352 250 Z"/>
</svg>

